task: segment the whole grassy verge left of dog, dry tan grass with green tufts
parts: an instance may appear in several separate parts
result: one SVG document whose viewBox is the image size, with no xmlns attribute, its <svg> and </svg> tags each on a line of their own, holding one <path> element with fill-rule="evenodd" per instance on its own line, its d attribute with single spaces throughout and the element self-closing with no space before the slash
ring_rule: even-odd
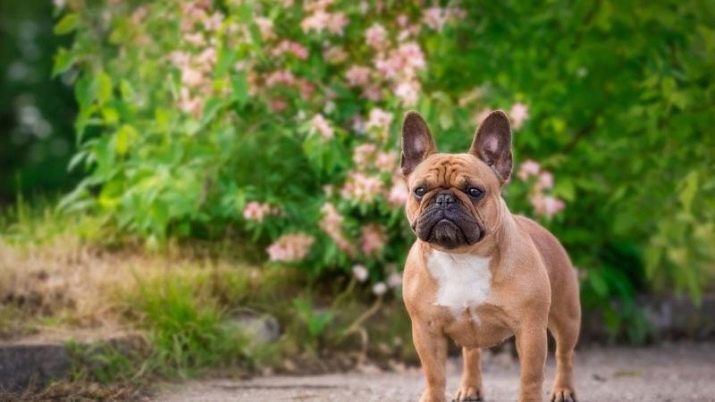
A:
<svg viewBox="0 0 715 402">
<path fill-rule="evenodd" d="M 356 320 L 361 334 L 371 327 L 375 355 L 393 358 L 411 350 L 402 341 L 407 321 L 401 307 L 383 306 L 375 319 L 362 323 L 359 317 L 373 298 L 346 289 L 348 278 L 312 281 L 295 269 L 259 266 L 250 262 L 258 260 L 253 244 L 194 242 L 149 251 L 117 243 L 91 217 L 73 222 L 51 213 L 19 215 L 15 224 L 0 215 L 0 341 L 84 341 L 139 330 L 151 349 L 137 361 L 102 356 L 110 363 L 103 363 L 101 373 L 88 371 L 79 379 L 28 390 L 23 398 L 141 399 L 139 390 L 145 387 L 137 381 L 152 376 L 193 375 L 222 366 L 304 372 L 315 365 L 319 370 L 337 350 L 360 354 L 347 360 L 336 355 L 340 364 L 329 365 L 349 366 L 367 352 L 365 336 L 346 331 Z M 308 313 L 296 310 L 298 299 Z M 306 338 L 311 321 L 325 311 L 335 319 Z M 269 345 L 245 342 L 243 334 L 224 325 L 237 316 L 265 313 L 282 330 Z M 336 335 L 343 333 L 349 336 Z"/>
</svg>

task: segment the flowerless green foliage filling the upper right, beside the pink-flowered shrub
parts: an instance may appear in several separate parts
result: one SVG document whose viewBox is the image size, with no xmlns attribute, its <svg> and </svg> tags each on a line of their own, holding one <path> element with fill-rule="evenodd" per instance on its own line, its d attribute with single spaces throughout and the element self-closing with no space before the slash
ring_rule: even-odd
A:
<svg viewBox="0 0 715 402">
<path fill-rule="evenodd" d="M 715 272 L 715 5 L 469 10 L 461 40 L 433 49 L 453 60 L 436 82 L 487 82 L 531 105 L 517 158 L 558 174 L 569 207 L 550 227 L 588 272 L 586 304 L 631 300 L 646 282 L 698 300 Z"/>
</svg>

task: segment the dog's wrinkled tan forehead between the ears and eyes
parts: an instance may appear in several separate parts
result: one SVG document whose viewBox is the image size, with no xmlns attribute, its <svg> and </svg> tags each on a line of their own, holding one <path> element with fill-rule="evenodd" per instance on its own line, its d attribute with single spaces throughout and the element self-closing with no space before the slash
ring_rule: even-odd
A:
<svg viewBox="0 0 715 402">
<path fill-rule="evenodd" d="M 433 154 L 420 163 L 410 175 L 410 184 L 462 187 L 466 183 L 496 183 L 491 168 L 471 154 Z M 494 182 L 494 183 L 492 183 Z"/>
</svg>

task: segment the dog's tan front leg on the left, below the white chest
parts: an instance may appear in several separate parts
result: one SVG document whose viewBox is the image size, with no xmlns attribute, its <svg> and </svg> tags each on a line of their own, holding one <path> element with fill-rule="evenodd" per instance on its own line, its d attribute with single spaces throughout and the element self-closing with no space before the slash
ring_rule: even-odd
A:
<svg viewBox="0 0 715 402">
<path fill-rule="evenodd" d="M 429 323 L 413 321 L 412 339 L 427 381 L 427 388 L 422 393 L 420 402 L 445 401 L 447 338 L 441 331 L 432 328 Z"/>
</svg>

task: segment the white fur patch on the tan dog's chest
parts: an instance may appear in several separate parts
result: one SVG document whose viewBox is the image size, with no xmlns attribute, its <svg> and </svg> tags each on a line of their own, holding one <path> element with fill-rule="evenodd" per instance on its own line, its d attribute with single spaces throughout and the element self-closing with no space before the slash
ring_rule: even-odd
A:
<svg viewBox="0 0 715 402">
<path fill-rule="evenodd" d="M 439 283 L 435 304 L 449 308 L 455 317 L 489 297 L 492 273 L 487 257 L 432 250 L 427 268 Z"/>
</svg>

